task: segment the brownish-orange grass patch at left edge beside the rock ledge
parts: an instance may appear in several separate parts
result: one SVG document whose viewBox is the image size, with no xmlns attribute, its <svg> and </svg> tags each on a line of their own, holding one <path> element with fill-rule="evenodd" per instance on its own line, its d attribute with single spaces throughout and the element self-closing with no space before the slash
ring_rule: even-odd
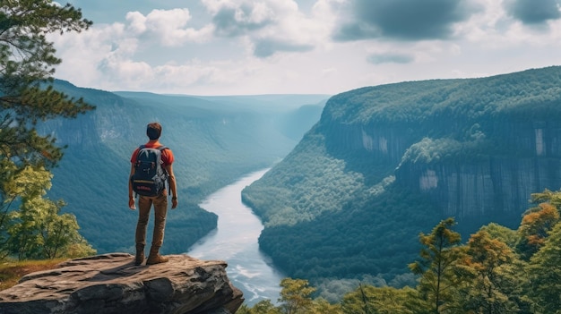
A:
<svg viewBox="0 0 561 314">
<path fill-rule="evenodd" d="M 0 291 L 13 287 L 22 276 L 41 270 L 53 269 L 66 259 L 0 261 Z"/>
</svg>

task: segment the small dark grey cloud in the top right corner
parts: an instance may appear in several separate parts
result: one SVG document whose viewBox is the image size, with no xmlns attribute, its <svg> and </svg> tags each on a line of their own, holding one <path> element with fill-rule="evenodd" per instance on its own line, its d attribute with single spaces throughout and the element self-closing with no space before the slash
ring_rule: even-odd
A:
<svg viewBox="0 0 561 314">
<path fill-rule="evenodd" d="M 509 0 L 504 5 L 510 15 L 524 24 L 542 24 L 561 17 L 558 0 Z"/>
</svg>

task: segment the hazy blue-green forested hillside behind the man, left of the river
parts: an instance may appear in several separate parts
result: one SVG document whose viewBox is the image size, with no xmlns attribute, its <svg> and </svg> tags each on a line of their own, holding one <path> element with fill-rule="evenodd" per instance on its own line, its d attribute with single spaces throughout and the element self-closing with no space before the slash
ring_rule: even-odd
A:
<svg viewBox="0 0 561 314">
<path fill-rule="evenodd" d="M 137 213 L 127 208 L 130 154 L 147 141 L 146 124 L 163 125 L 161 142 L 173 149 L 179 206 L 168 215 L 166 253 L 185 252 L 216 226 L 217 217 L 198 207 L 212 191 L 240 175 L 284 157 L 305 127 L 286 123 L 301 106 L 316 107 L 300 119 L 319 119 L 322 95 L 197 98 L 150 93 L 110 93 L 56 81 L 56 89 L 84 98 L 96 109 L 75 120 L 41 124 L 67 146 L 53 169 L 51 199 L 64 199 L 81 233 L 99 252 L 132 251 Z M 302 116 L 309 115 L 309 116 Z M 312 125 L 309 123 L 307 129 Z M 151 227 L 149 228 L 151 230 Z M 149 232 L 149 237 L 151 233 Z"/>
</svg>

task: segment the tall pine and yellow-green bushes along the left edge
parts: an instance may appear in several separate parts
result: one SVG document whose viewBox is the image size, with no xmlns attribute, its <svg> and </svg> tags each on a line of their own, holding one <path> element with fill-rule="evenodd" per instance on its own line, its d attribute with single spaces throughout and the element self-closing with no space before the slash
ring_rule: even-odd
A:
<svg viewBox="0 0 561 314">
<path fill-rule="evenodd" d="M 52 87 L 56 64 L 47 35 L 87 30 L 80 9 L 50 0 L 0 4 L 0 257 L 55 259 L 93 252 L 64 201 L 45 198 L 63 148 L 39 122 L 75 118 L 94 107 Z"/>
</svg>

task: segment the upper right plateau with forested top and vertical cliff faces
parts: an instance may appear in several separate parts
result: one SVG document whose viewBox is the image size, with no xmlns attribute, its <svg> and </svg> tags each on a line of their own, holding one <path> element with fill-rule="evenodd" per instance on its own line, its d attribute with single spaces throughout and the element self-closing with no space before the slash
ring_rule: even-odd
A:
<svg viewBox="0 0 561 314">
<path fill-rule="evenodd" d="M 531 193 L 561 188 L 559 72 L 357 89 L 330 99 L 319 129 L 332 154 L 393 165 L 443 216 L 516 227 Z"/>
</svg>

